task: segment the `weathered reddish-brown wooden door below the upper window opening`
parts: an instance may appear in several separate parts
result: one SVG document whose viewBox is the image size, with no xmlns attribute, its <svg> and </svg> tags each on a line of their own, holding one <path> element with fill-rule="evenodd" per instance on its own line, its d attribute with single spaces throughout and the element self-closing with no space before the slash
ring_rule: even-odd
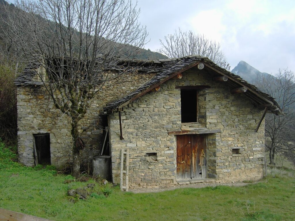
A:
<svg viewBox="0 0 295 221">
<path fill-rule="evenodd" d="M 178 180 L 202 177 L 201 166 L 205 166 L 205 141 L 204 135 L 177 136 L 176 166 Z"/>
</svg>

